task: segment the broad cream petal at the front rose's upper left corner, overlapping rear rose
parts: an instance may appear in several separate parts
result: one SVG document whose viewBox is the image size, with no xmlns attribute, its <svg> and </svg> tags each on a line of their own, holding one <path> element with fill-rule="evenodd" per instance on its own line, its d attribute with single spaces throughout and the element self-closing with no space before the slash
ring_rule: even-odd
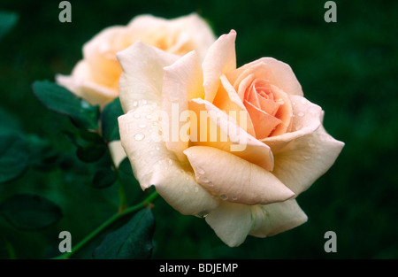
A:
<svg viewBox="0 0 398 277">
<path fill-rule="evenodd" d="M 179 56 L 155 47 L 135 42 L 117 54 L 123 68 L 119 81 L 119 98 L 123 111 L 136 108 L 137 101 L 160 105 L 164 67 L 172 65 Z"/>
</svg>

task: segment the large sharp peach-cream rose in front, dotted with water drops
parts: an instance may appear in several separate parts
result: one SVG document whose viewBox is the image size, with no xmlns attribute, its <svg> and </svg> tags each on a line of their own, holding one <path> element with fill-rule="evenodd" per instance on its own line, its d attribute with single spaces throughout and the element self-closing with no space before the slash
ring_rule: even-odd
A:
<svg viewBox="0 0 398 277">
<path fill-rule="evenodd" d="M 289 65 L 260 58 L 236 69 L 235 36 L 220 36 L 202 66 L 195 51 L 179 58 L 141 42 L 118 53 L 126 112 L 120 138 L 135 177 L 142 189 L 155 185 L 179 212 L 205 216 L 229 246 L 305 222 L 295 197 L 344 145 L 325 132 L 324 112 L 303 97 Z M 190 111 L 189 118 L 174 122 L 175 107 L 177 114 Z M 171 126 L 188 127 L 190 140 L 171 139 L 172 128 L 164 136 Z"/>
</svg>

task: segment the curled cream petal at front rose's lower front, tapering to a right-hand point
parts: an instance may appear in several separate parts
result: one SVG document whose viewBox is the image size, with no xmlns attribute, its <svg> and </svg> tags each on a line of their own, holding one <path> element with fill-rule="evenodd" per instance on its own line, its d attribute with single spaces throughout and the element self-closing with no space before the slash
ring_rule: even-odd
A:
<svg viewBox="0 0 398 277">
<path fill-rule="evenodd" d="M 196 181 L 221 200 L 253 205 L 295 196 L 269 171 L 226 151 L 194 146 L 184 153 L 195 171 Z"/>
</svg>

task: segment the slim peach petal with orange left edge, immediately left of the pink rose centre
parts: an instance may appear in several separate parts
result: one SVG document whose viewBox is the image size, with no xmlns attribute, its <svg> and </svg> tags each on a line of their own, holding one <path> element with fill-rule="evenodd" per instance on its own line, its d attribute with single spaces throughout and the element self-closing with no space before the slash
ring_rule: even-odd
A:
<svg viewBox="0 0 398 277">
<path fill-rule="evenodd" d="M 248 132 L 249 135 L 256 137 L 253 122 L 249 117 L 249 113 L 246 110 L 245 105 L 241 102 L 241 98 L 238 96 L 224 74 L 220 77 L 220 80 L 222 86 L 218 88 L 213 104 L 218 107 L 218 109 L 227 112 L 229 116 L 235 119 L 237 124 L 241 122 L 241 116 L 244 116 L 246 119 L 243 122 L 246 122 L 246 126 L 241 127 Z"/>
</svg>

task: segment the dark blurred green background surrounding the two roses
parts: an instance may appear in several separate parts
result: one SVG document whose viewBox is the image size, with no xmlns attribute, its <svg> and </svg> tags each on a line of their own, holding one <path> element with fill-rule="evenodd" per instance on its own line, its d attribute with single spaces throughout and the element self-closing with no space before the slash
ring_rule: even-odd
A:
<svg viewBox="0 0 398 277">
<path fill-rule="evenodd" d="M 21 178 L 0 184 L 0 203 L 32 192 L 64 214 L 56 225 L 35 232 L 19 231 L 0 217 L 0 258 L 55 256 L 60 231 L 70 231 L 77 243 L 118 206 L 117 188 L 90 187 L 94 165 L 74 158 L 73 144 L 61 132 L 70 121 L 43 107 L 32 83 L 71 73 L 83 43 L 104 27 L 126 25 L 142 13 L 171 19 L 190 12 L 207 19 L 216 35 L 237 31 L 238 65 L 261 57 L 291 65 L 304 96 L 324 109 L 326 130 L 346 146 L 298 197 L 307 223 L 265 239 L 249 236 L 238 248 L 221 242 L 204 219 L 182 216 L 158 198 L 152 257 L 398 258 L 398 2 L 335 1 L 337 23 L 325 23 L 325 1 L 70 3 L 72 23 L 58 21 L 59 1 L 0 4 L 0 11 L 19 16 L 0 41 L 0 131 L 25 135 L 49 156 L 47 167 L 32 161 Z M 129 183 L 128 201 L 138 203 L 144 194 Z M 337 235 L 337 253 L 324 251 L 329 230 Z M 76 258 L 89 258 L 96 243 Z"/>
</svg>

